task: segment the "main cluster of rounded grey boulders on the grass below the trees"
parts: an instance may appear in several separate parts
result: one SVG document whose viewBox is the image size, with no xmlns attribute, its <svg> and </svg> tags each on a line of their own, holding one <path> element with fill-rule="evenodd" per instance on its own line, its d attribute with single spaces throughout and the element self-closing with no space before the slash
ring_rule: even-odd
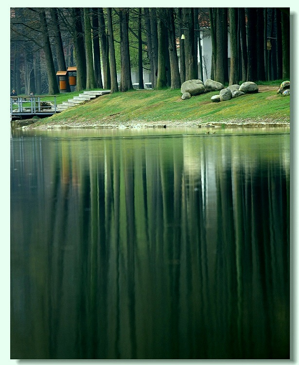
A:
<svg viewBox="0 0 299 365">
<path fill-rule="evenodd" d="M 246 93 L 258 92 L 257 84 L 251 81 L 244 82 L 241 86 L 234 84 L 225 88 L 220 82 L 208 78 L 205 83 L 199 79 L 187 80 L 182 83 L 181 93 L 182 100 L 190 99 L 192 96 L 202 94 L 204 92 L 220 91 L 219 95 L 211 97 L 211 101 L 219 102 L 229 100 L 234 97 L 244 95 Z"/>
</svg>

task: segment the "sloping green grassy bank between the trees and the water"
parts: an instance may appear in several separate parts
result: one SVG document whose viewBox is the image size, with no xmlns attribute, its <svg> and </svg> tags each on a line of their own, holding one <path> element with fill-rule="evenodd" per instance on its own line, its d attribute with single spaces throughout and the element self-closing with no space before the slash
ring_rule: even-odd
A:
<svg viewBox="0 0 299 365">
<path fill-rule="evenodd" d="M 289 122 L 290 98 L 277 94 L 278 85 L 259 86 L 259 92 L 213 103 L 208 92 L 182 100 L 180 90 L 140 90 L 103 95 L 35 122 L 32 127 L 120 126 L 173 122 L 229 121 Z M 72 96 L 75 93 L 72 93 Z M 62 98 L 72 97 L 63 94 Z"/>
</svg>

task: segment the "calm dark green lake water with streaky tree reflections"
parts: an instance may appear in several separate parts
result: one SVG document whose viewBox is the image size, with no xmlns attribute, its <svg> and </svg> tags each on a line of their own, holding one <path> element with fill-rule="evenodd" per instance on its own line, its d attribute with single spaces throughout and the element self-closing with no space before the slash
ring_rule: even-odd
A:
<svg viewBox="0 0 299 365">
<path fill-rule="evenodd" d="M 289 359 L 289 128 L 15 131 L 11 358 Z"/>
</svg>

